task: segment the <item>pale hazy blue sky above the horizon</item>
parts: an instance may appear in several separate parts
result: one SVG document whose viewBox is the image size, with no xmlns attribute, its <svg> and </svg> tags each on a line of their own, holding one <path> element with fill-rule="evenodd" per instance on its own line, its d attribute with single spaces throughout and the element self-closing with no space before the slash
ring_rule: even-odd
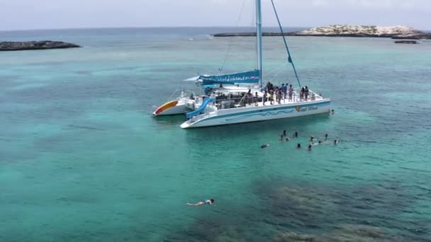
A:
<svg viewBox="0 0 431 242">
<path fill-rule="evenodd" d="M 274 3 L 281 23 L 287 27 L 409 25 L 431 30 L 431 0 L 274 0 Z M 253 25 L 253 16 L 254 0 L 0 0 L 0 30 L 235 27 Z M 270 0 L 262 0 L 262 24 L 276 26 Z"/>
</svg>

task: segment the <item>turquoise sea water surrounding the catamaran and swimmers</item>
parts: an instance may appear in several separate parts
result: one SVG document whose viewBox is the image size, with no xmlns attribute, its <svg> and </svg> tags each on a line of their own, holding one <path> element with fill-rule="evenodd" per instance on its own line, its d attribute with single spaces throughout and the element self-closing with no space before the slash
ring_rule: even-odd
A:
<svg viewBox="0 0 431 242">
<path fill-rule="evenodd" d="M 224 31 L 1 32 L 85 47 L 0 52 L 0 241 L 431 241 L 431 42 L 289 38 L 334 115 L 151 117 L 229 44 L 226 71 L 254 67 L 254 39 L 207 36 Z M 293 80 L 285 59 L 264 38 L 267 79 Z M 284 129 L 298 139 L 279 142 Z M 325 133 L 340 143 L 295 149 Z"/>
</svg>

